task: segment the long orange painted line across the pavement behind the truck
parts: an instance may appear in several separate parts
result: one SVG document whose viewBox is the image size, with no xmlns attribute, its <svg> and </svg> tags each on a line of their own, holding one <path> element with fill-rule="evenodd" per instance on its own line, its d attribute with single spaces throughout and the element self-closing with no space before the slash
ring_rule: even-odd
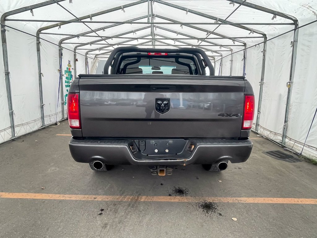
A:
<svg viewBox="0 0 317 238">
<path fill-rule="evenodd" d="M 178 197 L 178 196 L 100 196 L 45 193 L 0 193 L 0 198 L 80 200 L 80 201 L 133 201 L 133 202 L 233 202 L 233 203 L 281 203 L 316 204 L 313 198 L 278 197 Z"/>
</svg>

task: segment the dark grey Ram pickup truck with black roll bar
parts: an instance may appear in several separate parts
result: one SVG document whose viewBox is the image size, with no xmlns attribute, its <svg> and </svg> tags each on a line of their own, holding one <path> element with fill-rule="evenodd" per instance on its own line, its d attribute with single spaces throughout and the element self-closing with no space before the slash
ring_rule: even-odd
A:
<svg viewBox="0 0 317 238">
<path fill-rule="evenodd" d="M 252 87 L 243 76 L 214 76 L 200 49 L 118 47 L 103 75 L 74 79 L 67 104 L 70 153 L 95 171 L 118 164 L 147 165 L 153 175 L 189 164 L 221 171 L 251 153 Z"/>
</svg>

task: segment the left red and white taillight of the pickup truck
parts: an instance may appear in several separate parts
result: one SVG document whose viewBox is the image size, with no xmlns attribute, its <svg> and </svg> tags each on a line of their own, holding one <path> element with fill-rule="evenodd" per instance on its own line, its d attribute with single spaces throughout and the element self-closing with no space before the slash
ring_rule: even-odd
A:
<svg viewBox="0 0 317 238">
<path fill-rule="evenodd" d="M 69 93 L 67 96 L 67 105 L 69 127 L 73 129 L 81 129 L 79 95 L 77 93 Z"/>
</svg>

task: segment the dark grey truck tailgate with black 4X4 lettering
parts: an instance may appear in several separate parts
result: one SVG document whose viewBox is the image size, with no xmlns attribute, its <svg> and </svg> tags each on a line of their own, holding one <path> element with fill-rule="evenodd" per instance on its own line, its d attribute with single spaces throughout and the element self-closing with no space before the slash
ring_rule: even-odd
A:
<svg viewBox="0 0 317 238">
<path fill-rule="evenodd" d="M 213 76 L 82 76 L 84 137 L 239 137 L 245 81 Z M 156 99 L 170 99 L 160 114 Z"/>
</svg>

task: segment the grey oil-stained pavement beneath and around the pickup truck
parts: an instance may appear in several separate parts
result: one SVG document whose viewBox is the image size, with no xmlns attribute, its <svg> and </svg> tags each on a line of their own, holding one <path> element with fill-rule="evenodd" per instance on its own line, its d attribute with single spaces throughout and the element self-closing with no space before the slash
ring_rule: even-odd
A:
<svg viewBox="0 0 317 238">
<path fill-rule="evenodd" d="M 167 198 L 171 194 L 171 198 L 177 195 L 175 188 L 181 188 L 191 198 L 317 198 L 317 167 L 262 154 L 282 149 L 253 133 L 247 162 L 229 164 L 221 173 L 204 171 L 199 165 L 178 167 L 165 177 L 136 166 L 96 173 L 73 161 L 69 136 L 56 136 L 69 133 L 64 121 L 0 145 L 0 193 Z M 0 237 L 316 237 L 317 204 L 298 201 L 91 201 L 0 195 Z"/>
</svg>

